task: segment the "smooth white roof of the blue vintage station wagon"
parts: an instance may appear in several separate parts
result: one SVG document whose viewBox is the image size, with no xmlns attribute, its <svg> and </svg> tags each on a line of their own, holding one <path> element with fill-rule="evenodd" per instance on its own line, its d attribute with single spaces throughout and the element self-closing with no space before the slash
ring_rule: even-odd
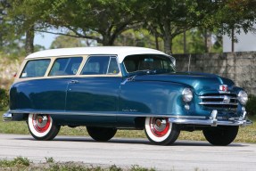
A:
<svg viewBox="0 0 256 171">
<path fill-rule="evenodd" d="M 95 46 L 95 47 L 74 47 L 74 48 L 61 48 L 50 49 L 40 51 L 37 53 L 29 54 L 25 59 L 37 59 L 42 57 L 56 57 L 56 56 L 70 56 L 70 55 L 117 55 L 120 63 L 128 55 L 132 54 L 163 54 L 161 51 L 157 51 L 145 47 L 132 47 L 132 46 Z"/>
</svg>

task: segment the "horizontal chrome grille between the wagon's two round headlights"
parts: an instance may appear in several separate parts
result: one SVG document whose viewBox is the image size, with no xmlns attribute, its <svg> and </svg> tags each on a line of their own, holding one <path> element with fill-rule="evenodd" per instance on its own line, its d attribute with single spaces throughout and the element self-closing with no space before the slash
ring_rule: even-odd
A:
<svg viewBox="0 0 256 171">
<path fill-rule="evenodd" d="M 199 104 L 211 109 L 236 110 L 238 105 L 236 94 L 204 94 L 199 98 Z"/>
</svg>

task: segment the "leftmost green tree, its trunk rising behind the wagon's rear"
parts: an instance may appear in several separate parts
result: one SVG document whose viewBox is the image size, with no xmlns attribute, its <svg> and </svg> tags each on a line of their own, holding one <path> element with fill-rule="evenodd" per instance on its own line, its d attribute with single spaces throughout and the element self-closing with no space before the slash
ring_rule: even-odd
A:
<svg viewBox="0 0 256 171">
<path fill-rule="evenodd" d="M 45 8 L 47 6 L 35 5 L 37 1 L 32 0 L 9 0 L 10 8 L 6 19 L 5 39 L 7 42 L 17 42 L 20 40 L 19 46 L 24 48 L 26 54 L 33 53 L 35 48 L 42 49 L 38 45 L 34 47 L 35 29 L 45 28 L 45 20 L 43 19 Z M 42 2 L 42 1 L 38 1 Z M 40 4 L 39 3 L 39 4 Z M 41 3 L 42 4 L 42 3 Z M 48 2 L 48 4 L 50 4 Z M 12 47 L 9 47 L 12 49 Z"/>
</svg>

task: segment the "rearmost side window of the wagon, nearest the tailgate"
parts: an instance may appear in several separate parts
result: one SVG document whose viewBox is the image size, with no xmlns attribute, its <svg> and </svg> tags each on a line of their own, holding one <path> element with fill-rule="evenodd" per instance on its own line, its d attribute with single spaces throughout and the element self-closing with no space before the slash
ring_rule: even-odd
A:
<svg viewBox="0 0 256 171">
<path fill-rule="evenodd" d="M 21 73 L 21 78 L 24 77 L 44 77 L 49 66 L 50 60 L 33 60 L 28 61 Z"/>
</svg>

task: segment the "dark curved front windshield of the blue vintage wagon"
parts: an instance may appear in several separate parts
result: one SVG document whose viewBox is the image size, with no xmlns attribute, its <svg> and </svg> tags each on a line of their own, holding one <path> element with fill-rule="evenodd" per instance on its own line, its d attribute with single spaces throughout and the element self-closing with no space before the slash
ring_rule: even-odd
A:
<svg viewBox="0 0 256 171">
<path fill-rule="evenodd" d="M 130 55 L 123 62 L 129 74 L 161 74 L 175 71 L 170 58 L 161 54 Z"/>
</svg>

